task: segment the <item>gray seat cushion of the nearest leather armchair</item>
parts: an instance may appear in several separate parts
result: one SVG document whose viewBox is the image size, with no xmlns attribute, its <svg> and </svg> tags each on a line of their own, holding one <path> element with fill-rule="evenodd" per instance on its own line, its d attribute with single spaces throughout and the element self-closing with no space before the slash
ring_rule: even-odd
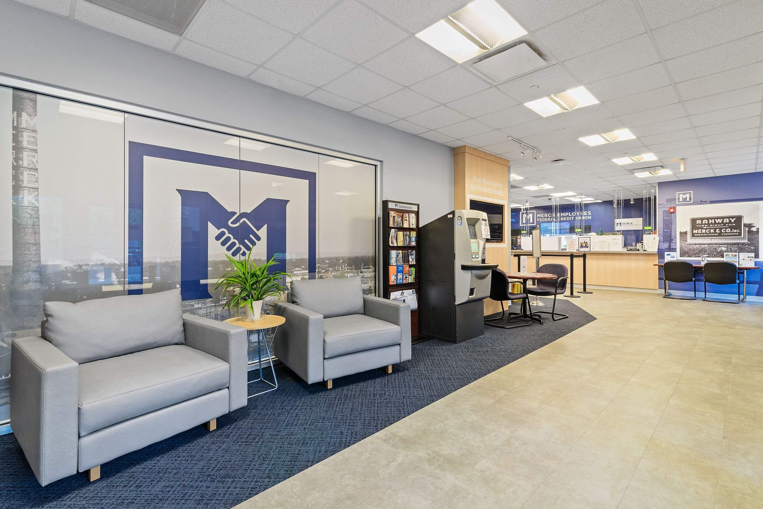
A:
<svg viewBox="0 0 763 509">
<path fill-rule="evenodd" d="M 79 365 L 79 435 L 228 386 L 228 363 L 185 344 Z"/>
</svg>

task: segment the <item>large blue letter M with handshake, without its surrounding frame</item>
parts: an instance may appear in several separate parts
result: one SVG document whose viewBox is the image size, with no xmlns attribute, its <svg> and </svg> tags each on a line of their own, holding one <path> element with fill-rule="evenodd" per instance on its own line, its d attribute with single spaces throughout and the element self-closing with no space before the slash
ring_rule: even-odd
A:
<svg viewBox="0 0 763 509">
<path fill-rule="evenodd" d="M 286 271 L 286 204 L 288 200 L 267 198 L 250 212 L 227 210 L 205 191 L 178 189 L 181 203 L 180 293 L 183 300 L 210 299 L 209 225 L 220 230 L 214 240 L 228 255 L 246 255 L 262 240 L 259 230 L 268 226 L 267 259 L 275 256 L 275 271 Z"/>
</svg>

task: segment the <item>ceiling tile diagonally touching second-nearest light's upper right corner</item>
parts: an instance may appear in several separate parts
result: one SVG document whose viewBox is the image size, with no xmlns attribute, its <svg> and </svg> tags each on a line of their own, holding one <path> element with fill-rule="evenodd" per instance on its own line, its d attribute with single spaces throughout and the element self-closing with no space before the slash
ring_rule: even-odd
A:
<svg viewBox="0 0 763 509">
<path fill-rule="evenodd" d="M 649 36 L 639 34 L 620 43 L 569 59 L 565 66 L 584 83 L 591 83 L 641 69 L 659 61 Z"/>
</svg>

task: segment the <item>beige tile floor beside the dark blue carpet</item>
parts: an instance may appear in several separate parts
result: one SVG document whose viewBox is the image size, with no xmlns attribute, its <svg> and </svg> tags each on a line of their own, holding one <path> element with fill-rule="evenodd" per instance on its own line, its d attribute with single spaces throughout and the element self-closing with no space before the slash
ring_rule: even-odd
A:
<svg viewBox="0 0 763 509">
<path fill-rule="evenodd" d="M 237 507 L 763 507 L 763 306 L 575 303 L 597 320 Z"/>
</svg>

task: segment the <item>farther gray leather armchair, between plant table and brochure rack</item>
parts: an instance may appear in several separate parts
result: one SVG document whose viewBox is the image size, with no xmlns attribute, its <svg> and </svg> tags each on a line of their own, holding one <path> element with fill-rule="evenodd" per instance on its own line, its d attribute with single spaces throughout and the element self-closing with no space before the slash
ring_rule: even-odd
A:
<svg viewBox="0 0 763 509">
<path fill-rule="evenodd" d="M 359 277 L 291 282 L 275 355 L 307 383 L 410 360 L 410 306 L 363 295 Z"/>
</svg>

